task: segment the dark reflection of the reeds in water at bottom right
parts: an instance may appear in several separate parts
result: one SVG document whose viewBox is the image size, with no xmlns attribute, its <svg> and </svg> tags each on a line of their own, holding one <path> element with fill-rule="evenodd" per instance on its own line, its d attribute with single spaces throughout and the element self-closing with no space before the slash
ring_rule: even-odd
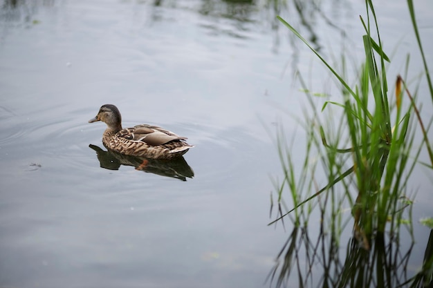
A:
<svg viewBox="0 0 433 288">
<path fill-rule="evenodd" d="M 403 245 L 410 233 L 377 233 L 369 250 L 356 238 L 345 249 L 329 227 L 320 225 L 318 236 L 308 227 L 293 227 L 277 254 L 277 262 L 268 274 L 275 287 L 433 287 L 428 270 L 433 259 L 433 230 L 425 247 L 420 267 L 411 267 L 409 258 L 414 240 Z M 317 237 L 316 237 L 317 236 Z M 430 262 L 429 262 L 430 261 Z"/>
</svg>

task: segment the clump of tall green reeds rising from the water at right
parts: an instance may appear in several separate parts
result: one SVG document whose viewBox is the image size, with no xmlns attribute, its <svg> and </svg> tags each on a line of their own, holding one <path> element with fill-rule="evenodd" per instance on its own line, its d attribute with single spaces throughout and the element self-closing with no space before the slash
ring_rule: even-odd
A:
<svg viewBox="0 0 433 288">
<path fill-rule="evenodd" d="M 391 93 L 389 93 L 385 62 L 389 57 L 383 51 L 380 41 L 380 32 L 376 21 L 376 14 L 371 1 L 367 1 L 367 19 L 361 17 L 366 34 L 362 37 L 365 48 L 365 64 L 360 69 L 359 83 L 351 88 L 344 75 L 338 73 L 317 52 L 308 41 L 304 39 L 295 28 L 284 19 L 279 18 L 284 25 L 301 39 L 308 48 L 324 63 L 329 71 L 338 79 L 341 86 L 342 102 L 326 102 L 322 111 L 340 108 L 342 119 L 339 120 L 337 133 L 331 133 L 333 129 L 327 124 L 323 125 L 318 117 L 307 119 L 306 132 L 307 153 L 302 168 L 302 182 L 295 185 L 294 166 L 290 153 L 282 152 L 284 144 L 282 137 L 279 142 L 280 158 L 286 157 L 287 162 L 282 162 L 286 184 L 291 191 L 294 208 L 286 213 L 280 211 L 281 219 L 291 212 L 295 213 L 307 202 L 316 198 L 323 192 L 335 191 L 337 184 L 343 189 L 349 202 L 352 204 L 352 213 L 355 218 L 355 226 L 358 233 L 367 240 L 375 231 L 385 232 L 387 223 L 391 229 L 395 229 L 401 218 L 400 203 L 405 198 L 407 179 L 414 167 L 411 157 L 414 133 L 411 130 L 414 106 L 403 106 L 400 101 L 396 105 L 396 113 L 391 117 L 390 108 Z M 376 35 L 377 41 L 373 35 Z M 398 95 L 401 99 L 401 95 Z M 370 104 L 369 102 L 374 102 Z M 310 100 L 311 108 L 316 109 Z M 405 107 L 405 108 L 403 108 Z M 330 111 L 331 112 L 331 111 Z M 319 136 L 320 135 L 320 141 Z M 347 139 L 348 147 L 342 147 L 342 139 Z M 324 170 L 328 177 L 328 184 L 317 189 L 313 195 L 300 200 L 304 188 L 312 189 L 311 184 L 305 187 L 306 171 L 312 171 L 310 163 L 310 147 L 316 144 L 320 158 L 324 162 Z M 322 145 L 322 146 L 317 146 Z M 416 154 L 417 155 L 417 154 Z M 415 155 L 415 157 L 416 157 Z M 413 156 L 412 156 L 413 157 Z M 347 163 L 351 163 L 349 166 Z M 314 168 L 315 169 L 315 168 Z M 311 180 L 311 178 L 310 178 Z M 282 198 L 282 188 L 279 189 L 279 200 Z M 391 218 L 391 220 L 390 220 Z M 275 221 L 277 221 L 275 220 Z"/>
</svg>

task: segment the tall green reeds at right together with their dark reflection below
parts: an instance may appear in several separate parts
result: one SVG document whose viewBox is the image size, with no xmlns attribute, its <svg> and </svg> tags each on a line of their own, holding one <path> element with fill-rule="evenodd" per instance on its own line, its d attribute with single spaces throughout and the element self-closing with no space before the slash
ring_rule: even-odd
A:
<svg viewBox="0 0 433 288">
<path fill-rule="evenodd" d="M 416 93 L 412 95 L 405 84 L 407 76 L 399 75 L 395 86 L 391 86 L 394 97 L 389 91 L 387 62 L 390 59 L 380 39 L 373 3 L 371 0 L 365 3 L 367 17 L 360 17 L 365 30 L 362 37 L 365 61 L 353 88 L 348 84 L 344 68 L 339 73 L 293 26 L 277 17 L 322 61 L 337 79 L 342 95 L 340 101 L 324 102 L 322 115 L 318 116 L 315 96 L 309 93 L 302 77 L 298 77 L 311 108 L 311 113 L 306 113 L 301 122 L 307 143 L 301 168 L 293 162 L 293 148 L 287 148 L 281 126 L 277 131 L 284 180 L 276 190 L 278 199 L 284 201 L 286 188 L 289 189 L 293 208 L 287 209 L 284 204 L 284 212 L 279 205 L 277 217 L 269 224 L 294 215 L 290 218 L 293 232 L 278 254 L 282 262 L 277 262 L 269 275 L 271 282 L 277 277 L 277 287 L 288 282 L 295 267 L 300 287 L 309 286 L 308 281 L 313 282 L 313 264 L 317 261 L 322 265 L 319 281 L 322 287 L 401 287 L 408 283 L 418 287 L 416 283 L 429 283 L 433 278 L 433 256 L 428 253 L 433 251 L 432 244 L 427 244 L 423 269 L 412 278 L 406 272 L 412 246 L 403 253 L 400 247 L 402 227 L 407 228 L 412 245 L 414 240 L 413 195 L 407 195 L 407 183 L 421 153 L 421 146 L 415 144 L 416 122 L 421 126 L 423 143 L 433 167 L 432 147 L 427 137 L 432 122 L 423 125 Z M 421 41 L 418 42 L 421 47 Z M 406 75 L 408 63 L 407 58 Z M 425 69 L 428 74 L 427 66 Z M 327 184 L 317 186 L 320 180 Z M 315 213 L 311 210 L 315 205 L 312 203 L 317 204 L 320 213 L 317 242 L 311 240 L 308 232 L 308 220 Z M 309 208 L 304 209 L 305 205 Z M 347 206 L 349 214 L 344 213 Z M 344 261 L 340 262 L 338 249 L 348 224 L 353 225 L 353 237 Z M 306 262 L 311 265 L 304 274 L 299 264 L 294 264 L 301 251 L 306 253 Z"/>
</svg>

